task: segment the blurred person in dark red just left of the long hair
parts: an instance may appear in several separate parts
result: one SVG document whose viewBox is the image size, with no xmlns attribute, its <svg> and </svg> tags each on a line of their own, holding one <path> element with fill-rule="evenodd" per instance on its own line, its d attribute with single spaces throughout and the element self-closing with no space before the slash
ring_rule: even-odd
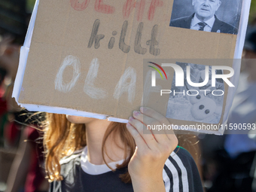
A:
<svg viewBox="0 0 256 192">
<path fill-rule="evenodd" d="M 46 192 L 48 190 L 43 151 L 42 137 L 38 130 L 35 127 L 26 126 L 8 175 L 5 192 Z M 23 187 L 24 179 L 26 181 Z"/>
</svg>

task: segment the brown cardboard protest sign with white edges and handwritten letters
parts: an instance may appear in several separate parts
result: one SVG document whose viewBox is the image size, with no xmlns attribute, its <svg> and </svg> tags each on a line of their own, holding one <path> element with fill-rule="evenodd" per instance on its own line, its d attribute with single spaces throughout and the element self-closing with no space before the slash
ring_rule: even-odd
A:
<svg viewBox="0 0 256 192">
<path fill-rule="evenodd" d="M 229 18 L 232 25 L 219 20 L 224 14 L 218 14 L 212 24 L 213 31 L 207 32 L 200 28 L 193 30 L 192 24 L 185 23 L 195 14 L 177 18 L 176 7 L 181 6 L 177 0 L 37 1 L 21 49 L 13 96 L 20 105 L 34 111 L 109 117 L 109 120 L 126 122 L 132 111 L 145 105 L 178 125 L 195 123 L 199 119 L 168 114 L 169 95 L 159 97 L 159 92 L 154 96 L 154 91 L 145 94 L 147 74 L 152 71 L 145 65 L 159 62 L 158 59 L 194 63 L 200 75 L 204 71 L 199 72 L 197 65 L 210 65 L 193 59 L 239 58 L 250 2 L 233 2 L 236 12 Z M 217 65 L 232 67 L 233 62 Z M 170 69 L 169 81 L 159 84 L 172 87 L 174 75 Z M 214 123 L 227 120 L 230 108 L 227 95 L 233 99 L 234 90 L 227 93 L 227 84 L 222 88 L 223 107 L 219 109 L 218 122 Z"/>
</svg>

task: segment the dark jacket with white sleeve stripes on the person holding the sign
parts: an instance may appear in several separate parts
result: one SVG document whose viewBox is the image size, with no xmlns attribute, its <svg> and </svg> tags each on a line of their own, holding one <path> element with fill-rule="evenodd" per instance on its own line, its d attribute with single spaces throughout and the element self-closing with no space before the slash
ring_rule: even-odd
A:
<svg viewBox="0 0 256 192">
<path fill-rule="evenodd" d="M 125 184 L 118 175 L 127 167 L 99 175 L 90 175 L 81 168 L 81 151 L 67 157 L 61 163 L 62 181 L 53 181 L 49 192 L 132 192 L 133 185 Z M 163 169 L 163 182 L 166 191 L 203 192 L 200 175 L 191 155 L 183 148 L 175 148 L 166 160 Z"/>
</svg>

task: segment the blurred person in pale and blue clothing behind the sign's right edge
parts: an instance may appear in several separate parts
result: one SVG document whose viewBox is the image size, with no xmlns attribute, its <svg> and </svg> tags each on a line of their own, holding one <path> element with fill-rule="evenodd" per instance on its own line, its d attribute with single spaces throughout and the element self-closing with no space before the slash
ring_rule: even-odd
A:
<svg viewBox="0 0 256 192">
<path fill-rule="evenodd" d="M 227 124 L 229 130 L 224 136 L 224 150 L 218 152 L 218 175 L 209 192 L 251 192 L 254 175 L 253 161 L 256 141 L 248 135 L 256 122 L 256 29 L 248 28 L 242 60 L 243 72 Z M 246 123 L 246 130 L 231 129 Z M 254 128 L 253 128 L 254 127 Z"/>
</svg>

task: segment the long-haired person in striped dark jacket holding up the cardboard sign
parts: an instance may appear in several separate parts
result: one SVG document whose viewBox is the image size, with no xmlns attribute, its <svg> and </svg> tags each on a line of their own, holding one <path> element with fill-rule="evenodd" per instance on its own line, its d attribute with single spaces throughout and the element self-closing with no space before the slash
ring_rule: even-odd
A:
<svg viewBox="0 0 256 192">
<path fill-rule="evenodd" d="M 203 191 L 197 166 L 177 147 L 175 134 L 145 128 L 169 124 L 151 108 L 134 111 L 126 124 L 63 114 L 48 120 L 50 192 Z"/>
</svg>

